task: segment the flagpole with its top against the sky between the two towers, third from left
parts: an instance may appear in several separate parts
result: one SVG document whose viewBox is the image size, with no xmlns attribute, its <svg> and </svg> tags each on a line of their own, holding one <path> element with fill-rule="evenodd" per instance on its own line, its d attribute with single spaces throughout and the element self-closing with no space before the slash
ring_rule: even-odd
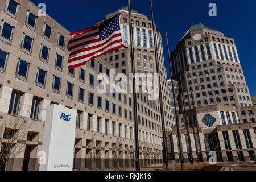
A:
<svg viewBox="0 0 256 182">
<path fill-rule="evenodd" d="M 177 115 L 177 107 L 176 107 L 176 98 L 175 98 L 175 92 L 174 92 L 174 80 L 172 75 L 172 68 L 171 68 L 171 57 L 170 57 L 170 49 L 168 44 L 168 36 L 166 31 L 166 42 L 167 42 L 167 50 L 168 50 L 168 58 L 169 58 L 169 67 L 170 67 L 170 73 L 171 73 L 171 81 L 172 81 L 172 96 L 174 97 L 174 109 L 175 109 L 175 118 L 176 118 L 176 126 L 177 126 L 177 139 L 179 142 L 179 152 L 180 152 L 180 163 L 181 163 L 181 169 L 183 169 L 183 155 L 182 155 L 182 144 L 180 139 L 180 124 L 179 124 L 179 117 Z"/>
</svg>

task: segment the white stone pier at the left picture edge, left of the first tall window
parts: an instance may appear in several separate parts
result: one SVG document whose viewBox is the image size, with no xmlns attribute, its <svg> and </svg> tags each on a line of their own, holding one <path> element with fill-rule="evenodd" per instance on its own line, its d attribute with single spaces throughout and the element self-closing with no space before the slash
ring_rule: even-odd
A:
<svg viewBox="0 0 256 182">
<path fill-rule="evenodd" d="M 8 113 L 10 100 L 11 100 L 11 92 L 13 88 L 2 85 L 0 88 L 0 112 Z"/>
</svg>

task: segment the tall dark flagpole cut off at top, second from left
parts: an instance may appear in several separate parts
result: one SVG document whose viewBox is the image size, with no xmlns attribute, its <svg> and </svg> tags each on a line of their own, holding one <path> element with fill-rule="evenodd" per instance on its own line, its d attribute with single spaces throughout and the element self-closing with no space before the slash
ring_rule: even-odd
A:
<svg viewBox="0 0 256 182">
<path fill-rule="evenodd" d="M 154 15 L 153 15 L 153 6 L 152 1 L 151 4 L 151 15 L 152 15 L 152 27 L 153 27 L 153 38 L 154 38 L 154 46 L 155 46 L 155 61 L 156 61 L 156 70 L 160 73 L 159 69 L 159 62 L 158 62 L 158 53 L 156 52 L 156 36 L 155 36 L 155 23 L 154 23 Z M 158 90 L 159 90 L 159 102 L 160 102 L 160 113 L 161 113 L 161 120 L 162 120 L 162 130 L 163 130 L 163 153 L 164 153 L 164 163 L 166 164 L 166 170 L 169 169 L 168 167 L 168 154 L 167 154 L 167 143 L 166 143 L 166 129 L 164 127 L 164 113 L 163 113 L 163 100 L 162 100 L 162 86 L 161 81 L 158 81 Z"/>
</svg>

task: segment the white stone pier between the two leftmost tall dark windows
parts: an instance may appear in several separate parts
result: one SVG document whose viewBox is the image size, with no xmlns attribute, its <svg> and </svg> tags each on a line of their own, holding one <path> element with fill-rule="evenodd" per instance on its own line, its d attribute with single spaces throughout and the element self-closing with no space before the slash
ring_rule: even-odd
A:
<svg viewBox="0 0 256 182">
<path fill-rule="evenodd" d="M 20 103 L 19 115 L 22 117 L 30 117 L 31 106 L 32 106 L 33 95 L 24 93 Z"/>
</svg>

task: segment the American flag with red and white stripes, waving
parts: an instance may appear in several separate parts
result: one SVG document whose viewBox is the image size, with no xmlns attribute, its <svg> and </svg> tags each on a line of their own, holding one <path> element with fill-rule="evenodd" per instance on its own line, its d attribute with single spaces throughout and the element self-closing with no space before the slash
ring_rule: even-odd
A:
<svg viewBox="0 0 256 182">
<path fill-rule="evenodd" d="M 84 65 L 89 60 L 123 47 L 120 15 L 85 30 L 72 32 L 68 42 L 68 68 Z"/>
</svg>

